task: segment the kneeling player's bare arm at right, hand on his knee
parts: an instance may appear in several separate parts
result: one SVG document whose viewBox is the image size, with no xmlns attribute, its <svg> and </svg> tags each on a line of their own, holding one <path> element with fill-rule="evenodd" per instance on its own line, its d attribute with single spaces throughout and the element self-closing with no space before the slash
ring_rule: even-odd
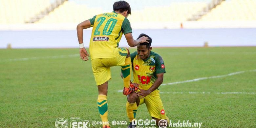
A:
<svg viewBox="0 0 256 128">
<path fill-rule="evenodd" d="M 143 90 L 139 89 L 140 92 L 137 93 L 138 96 L 142 96 L 141 98 L 149 95 L 153 91 L 155 91 L 161 84 L 163 83 L 163 73 L 157 74 L 157 80 L 155 83 L 148 89 L 148 90 Z"/>
</svg>

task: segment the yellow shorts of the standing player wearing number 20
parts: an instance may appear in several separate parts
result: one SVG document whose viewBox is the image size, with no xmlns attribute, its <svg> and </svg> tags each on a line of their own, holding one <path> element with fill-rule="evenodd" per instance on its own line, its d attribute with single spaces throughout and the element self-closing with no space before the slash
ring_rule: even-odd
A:
<svg viewBox="0 0 256 128">
<path fill-rule="evenodd" d="M 92 68 L 96 85 L 101 85 L 111 79 L 110 67 L 123 66 L 127 54 L 128 50 L 126 48 L 118 48 L 116 57 L 93 59 Z"/>
</svg>

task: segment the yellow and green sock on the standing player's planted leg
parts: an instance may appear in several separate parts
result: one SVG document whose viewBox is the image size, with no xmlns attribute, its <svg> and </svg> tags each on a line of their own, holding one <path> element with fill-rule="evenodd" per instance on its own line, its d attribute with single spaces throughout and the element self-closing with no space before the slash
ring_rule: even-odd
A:
<svg viewBox="0 0 256 128">
<path fill-rule="evenodd" d="M 100 114 L 103 126 L 104 125 L 109 126 L 107 96 L 99 95 L 97 104 L 98 104 L 99 114 Z"/>
</svg>

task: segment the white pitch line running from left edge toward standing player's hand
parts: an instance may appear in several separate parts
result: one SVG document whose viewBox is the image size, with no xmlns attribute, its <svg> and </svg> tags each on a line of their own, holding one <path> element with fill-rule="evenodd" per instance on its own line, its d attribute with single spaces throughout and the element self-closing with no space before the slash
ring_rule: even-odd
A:
<svg viewBox="0 0 256 128">
<path fill-rule="evenodd" d="M 27 60 L 38 60 L 38 59 L 54 59 L 54 58 L 71 58 L 77 57 L 79 54 L 71 54 L 71 55 L 56 55 L 56 56 L 42 56 L 42 57 L 28 57 L 28 58 L 16 58 L 16 59 L 2 59 L 0 62 L 8 62 L 8 61 L 27 61 Z"/>
</svg>

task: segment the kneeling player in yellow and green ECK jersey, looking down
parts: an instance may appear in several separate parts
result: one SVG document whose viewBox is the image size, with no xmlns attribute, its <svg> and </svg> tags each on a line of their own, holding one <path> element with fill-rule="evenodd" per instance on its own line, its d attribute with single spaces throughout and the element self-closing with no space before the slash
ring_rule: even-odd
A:
<svg viewBox="0 0 256 128">
<path fill-rule="evenodd" d="M 156 120 L 169 118 L 166 116 L 158 87 L 163 82 L 165 66 L 162 57 L 152 52 L 152 39 L 146 34 L 140 34 L 138 38 L 146 36 L 149 43 L 141 43 L 137 46 L 137 52 L 131 53 L 133 67 L 133 83 L 138 86 L 137 92 L 127 96 L 126 112 L 130 120 L 128 128 L 134 128 L 132 120 L 136 117 L 137 108 L 145 103 L 150 116 Z M 121 77 L 123 74 L 121 73 Z"/>
</svg>

